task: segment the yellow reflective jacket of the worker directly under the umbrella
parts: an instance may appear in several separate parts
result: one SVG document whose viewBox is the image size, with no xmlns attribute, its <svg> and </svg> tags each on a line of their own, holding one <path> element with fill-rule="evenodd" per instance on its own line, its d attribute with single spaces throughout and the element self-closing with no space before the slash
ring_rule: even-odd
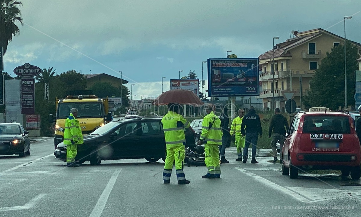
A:
<svg viewBox="0 0 361 217">
<path fill-rule="evenodd" d="M 188 128 L 190 123 L 184 119 L 182 115 L 174 111 L 169 111 L 162 118 L 162 126 L 166 146 L 174 147 L 186 144 L 184 128 Z"/>
</svg>

